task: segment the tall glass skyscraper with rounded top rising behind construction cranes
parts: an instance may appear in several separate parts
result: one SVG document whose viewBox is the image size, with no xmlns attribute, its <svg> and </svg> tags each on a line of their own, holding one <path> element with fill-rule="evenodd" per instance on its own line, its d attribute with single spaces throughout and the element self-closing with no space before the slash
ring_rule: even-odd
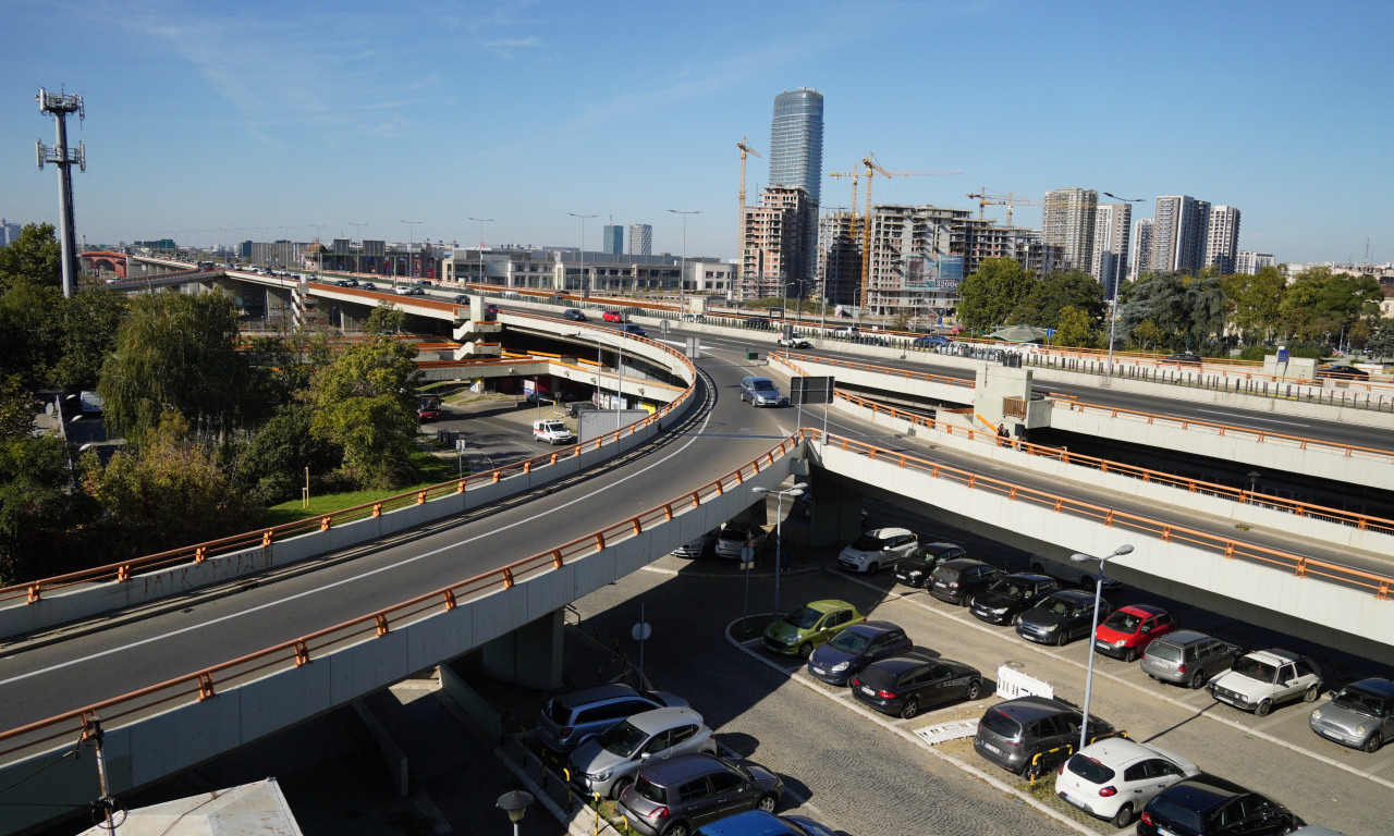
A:
<svg viewBox="0 0 1394 836">
<path fill-rule="evenodd" d="M 807 202 L 803 229 L 803 258 L 800 274 L 790 280 L 813 277 L 818 261 L 818 206 L 822 184 L 822 93 L 807 88 L 785 91 L 775 96 L 774 120 L 769 124 L 769 185 L 802 188 Z"/>
</svg>

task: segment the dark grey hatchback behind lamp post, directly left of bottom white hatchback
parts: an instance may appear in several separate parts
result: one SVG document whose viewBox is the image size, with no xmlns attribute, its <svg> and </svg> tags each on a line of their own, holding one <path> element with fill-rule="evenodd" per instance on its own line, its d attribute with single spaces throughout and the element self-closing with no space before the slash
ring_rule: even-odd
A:
<svg viewBox="0 0 1394 836">
<path fill-rule="evenodd" d="M 1083 713 L 1059 699 L 1018 697 L 983 712 L 973 736 L 973 750 L 1008 772 L 1023 775 L 1034 768 L 1044 773 L 1068 757 L 1068 752 L 1044 752 L 1079 745 L 1080 723 Z M 1104 720 L 1089 718 L 1089 733 L 1093 737 L 1107 737 L 1112 730 Z M 1043 757 L 1036 761 L 1039 754 Z"/>
</svg>

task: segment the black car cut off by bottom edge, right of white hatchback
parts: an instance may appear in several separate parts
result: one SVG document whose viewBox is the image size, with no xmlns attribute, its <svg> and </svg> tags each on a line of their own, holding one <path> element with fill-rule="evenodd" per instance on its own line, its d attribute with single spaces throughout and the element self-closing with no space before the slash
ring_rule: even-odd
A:
<svg viewBox="0 0 1394 836">
<path fill-rule="evenodd" d="M 1214 775 L 1197 775 L 1157 793 L 1142 808 L 1138 836 L 1269 836 L 1303 825 L 1291 810 Z"/>
</svg>

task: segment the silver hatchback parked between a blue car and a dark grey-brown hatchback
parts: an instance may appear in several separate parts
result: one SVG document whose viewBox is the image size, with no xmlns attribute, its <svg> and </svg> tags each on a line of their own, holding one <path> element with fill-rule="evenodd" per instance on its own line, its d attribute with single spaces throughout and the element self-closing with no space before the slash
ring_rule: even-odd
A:
<svg viewBox="0 0 1394 836">
<path fill-rule="evenodd" d="M 633 715 L 572 752 L 572 783 L 585 797 L 618 798 L 638 768 L 687 752 L 717 754 L 717 734 L 690 708 L 655 708 Z"/>
</svg>

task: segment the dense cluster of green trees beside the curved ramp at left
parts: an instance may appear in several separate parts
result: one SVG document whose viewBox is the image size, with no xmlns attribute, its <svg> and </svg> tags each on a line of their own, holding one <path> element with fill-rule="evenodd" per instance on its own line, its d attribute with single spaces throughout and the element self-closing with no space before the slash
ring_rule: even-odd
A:
<svg viewBox="0 0 1394 836">
<path fill-rule="evenodd" d="M 0 585 L 255 528 L 321 489 L 415 479 L 415 348 L 381 307 L 367 337 L 245 339 L 223 294 L 64 298 L 49 224 L 0 248 Z M 95 389 L 109 457 L 36 435 L 35 393 Z"/>
</svg>

